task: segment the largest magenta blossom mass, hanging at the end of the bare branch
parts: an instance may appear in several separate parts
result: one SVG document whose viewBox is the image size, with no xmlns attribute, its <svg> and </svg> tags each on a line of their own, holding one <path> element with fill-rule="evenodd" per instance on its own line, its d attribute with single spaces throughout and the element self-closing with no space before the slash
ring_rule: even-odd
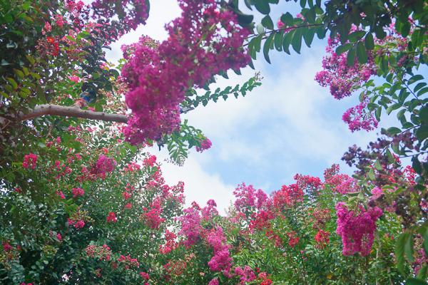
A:
<svg viewBox="0 0 428 285">
<path fill-rule="evenodd" d="M 168 40 L 153 46 L 143 36 L 123 66 L 126 103 L 133 111 L 123 133 L 132 144 L 178 129 L 178 103 L 190 85 L 202 88 L 213 75 L 250 62 L 242 48 L 250 31 L 238 25 L 232 11 L 220 10 L 214 0 L 178 2 L 183 14 L 166 26 Z"/>
</svg>

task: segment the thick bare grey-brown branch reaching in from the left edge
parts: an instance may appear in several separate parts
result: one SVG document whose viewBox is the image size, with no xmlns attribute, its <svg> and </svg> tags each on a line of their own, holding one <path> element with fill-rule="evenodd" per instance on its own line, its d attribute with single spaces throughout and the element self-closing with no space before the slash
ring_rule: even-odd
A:
<svg viewBox="0 0 428 285">
<path fill-rule="evenodd" d="M 29 120 L 32 118 L 41 117 L 42 115 L 59 115 L 62 117 L 68 116 L 73 118 L 85 118 L 89 120 L 104 120 L 106 122 L 118 122 L 118 123 L 127 123 L 128 116 L 110 114 L 104 112 L 93 112 L 88 110 L 81 110 L 76 105 L 73 106 L 61 106 L 61 105 L 37 105 L 34 110 L 29 109 L 28 114 L 20 112 L 11 120 L 15 122 L 22 122 L 24 120 Z"/>
</svg>

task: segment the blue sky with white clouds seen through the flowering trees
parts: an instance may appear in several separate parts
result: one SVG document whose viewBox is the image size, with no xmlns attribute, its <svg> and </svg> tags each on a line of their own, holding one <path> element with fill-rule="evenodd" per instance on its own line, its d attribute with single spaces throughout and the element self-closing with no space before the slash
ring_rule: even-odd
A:
<svg viewBox="0 0 428 285">
<path fill-rule="evenodd" d="M 91 1 L 86 0 L 88 2 Z M 300 11 L 300 5 L 294 1 L 270 7 L 274 21 L 287 11 L 292 15 Z M 262 15 L 249 12 L 255 14 L 255 22 L 260 23 Z M 122 57 L 121 45 L 136 42 L 141 35 L 165 40 L 168 38 L 165 24 L 178 16 L 180 8 L 176 0 L 152 0 L 147 24 L 113 43 L 112 51 L 107 51 L 108 61 L 116 63 Z M 168 185 L 178 181 L 185 183 L 187 205 L 195 201 L 203 207 L 208 199 L 214 199 L 219 212 L 224 213 L 223 209 L 234 198 L 235 187 L 242 182 L 270 193 L 282 185 L 293 184 L 296 174 L 323 179 L 324 170 L 333 163 L 340 165 L 342 173 L 352 175 L 355 169 L 341 160 L 347 148 L 356 144 L 364 149 L 377 139 L 382 126 L 397 125 L 392 113 L 382 117 L 377 130 L 351 133 L 342 122 L 342 114 L 359 103 L 359 93 L 336 100 L 328 88 L 319 86 L 314 78 L 322 71 L 327 41 L 315 36 L 311 48 L 304 45 L 300 55 L 295 51 L 291 51 L 290 56 L 271 51 L 272 64 L 258 53 L 255 70 L 244 68 L 242 76 L 230 71 L 228 80 L 220 77 L 210 86 L 213 90 L 236 84 L 242 86 L 260 71 L 262 86 L 245 98 L 220 99 L 218 103 L 210 102 L 181 116 L 183 120 L 188 119 L 188 125 L 203 130 L 213 142 L 209 150 L 200 153 L 193 147 L 183 167 L 164 162 L 168 158 L 166 148 L 148 150 L 162 162 L 163 177 Z"/>
</svg>

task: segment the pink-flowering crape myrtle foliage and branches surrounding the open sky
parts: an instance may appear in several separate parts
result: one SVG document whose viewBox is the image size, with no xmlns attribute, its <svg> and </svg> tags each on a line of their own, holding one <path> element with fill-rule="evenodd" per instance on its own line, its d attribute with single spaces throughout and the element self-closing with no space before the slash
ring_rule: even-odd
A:
<svg viewBox="0 0 428 285">
<path fill-rule="evenodd" d="M 278 1 L 244 2 L 265 15 L 261 24 L 237 0 L 180 1 L 168 40 L 142 36 L 116 68 L 103 48 L 144 24 L 147 0 L 97 0 L 91 9 L 71 0 L 0 2 L 4 283 L 425 284 L 428 168 L 419 157 L 428 147 L 428 88 L 415 73 L 427 62 L 427 5 L 300 1 L 302 12 L 286 12 L 275 28 L 270 4 Z M 315 33 L 330 37 L 331 54 L 317 81 L 337 99 L 363 90 L 344 114 L 350 128 L 375 128 L 382 109 L 397 110 L 402 127 L 382 130 L 368 150 L 350 147 L 343 159 L 357 166 L 353 177 L 335 167 L 324 183 L 297 175 L 270 198 L 240 185 L 228 218 L 213 200 L 182 212 L 183 185 L 165 185 L 143 147 L 168 145 L 178 163 L 190 147 L 207 149 L 180 113 L 259 86 L 256 75 L 209 90 L 215 76 L 252 66 L 262 41 L 270 62 L 270 50 L 300 53 Z M 376 86 L 375 75 L 387 83 Z M 400 157 L 412 157 L 412 167 Z M 394 247 L 389 235 L 401 229 Z"/>
</svg>

